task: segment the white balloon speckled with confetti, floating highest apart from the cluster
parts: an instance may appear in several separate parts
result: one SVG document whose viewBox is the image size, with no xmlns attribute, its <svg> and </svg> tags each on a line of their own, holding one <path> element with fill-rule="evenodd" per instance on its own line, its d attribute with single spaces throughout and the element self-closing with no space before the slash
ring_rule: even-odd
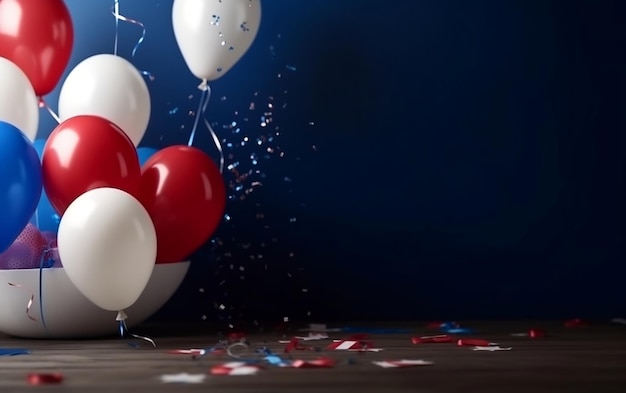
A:
<svg viewBox="0 0 626 393">
<path fill-rule="evenodd" d="M 261 24 L 260 0 L 174 0 L 178 47 L 198 78 L 215 80 L 248 51 Z"/>
</svg>

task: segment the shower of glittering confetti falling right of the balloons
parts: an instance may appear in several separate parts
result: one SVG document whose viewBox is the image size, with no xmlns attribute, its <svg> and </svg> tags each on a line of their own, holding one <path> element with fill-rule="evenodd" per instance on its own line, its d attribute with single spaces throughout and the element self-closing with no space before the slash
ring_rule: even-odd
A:
<svg viewBox="0 0 626 393">
<path fill-rule="evenodd" d="M 219 22 L 219 16 L 214 16 L 211 23 Z M 275 39 L 280 38 L 277 35 Z M 311 286 L 304 282 L 296 253 L 283 240 L 299 230 L 298 213 L 306 203 L 298 200 L 294 191 L 300 180 L 294 163 L 303 152 L 286 151 L 282 141 L 284 135 L 301 132 L 288 122 L 289 87 L 299 74 L 296 66 L 279 63 L 279 44 L 272 44 L 267 58 L 277 72 L 271 74 L 276 79 L 266 90 L 238 92 L 236 97 L 221 95 L 207 110 L 207 120 L 224 153 L 228 201 L 218 231 L 210 244 L 197 252 L 196 258 L 206 260 L 202 263 L 212 270 L 196 294 L 206 304 L 198 310 L 199 318 L 217 319 L 227 330 L 248 321 L 260 329 L 263 322 L 282 319 L 288 325 L 290 317 L 305 320 L 311 316 L 307 307 Z M 282 73 L 284 70 L 288 73 Z M 180 120 L 182 136 L 188 136 L 197 111 L 197 93 L 187 98 L 187 103 L 172 102 L 167 109 L 172 118 Z M 209 143 L 208 134 L 199 134 L 198 144 L 203 143 L 202 138 Z M 213 150 L 206 149 L 217 162 Z M 276 211 L 272 208 L 276 206 L 274 197 L 290 202 Z"/>
</svg>

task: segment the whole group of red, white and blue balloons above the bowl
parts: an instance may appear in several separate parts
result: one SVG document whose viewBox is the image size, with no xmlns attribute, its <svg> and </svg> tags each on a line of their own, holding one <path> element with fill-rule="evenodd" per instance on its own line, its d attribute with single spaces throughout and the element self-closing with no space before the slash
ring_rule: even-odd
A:
<svg viewBox="0 0 626 393">
<path fill-rule="evenodd" d="M 260 17 L 259 0 L 174 0 L 174 35 L 202 90 L 248 50 Z M 182 261 L 209 240 L 226 187 L 197 148 L 137 148 L 150 94 L 116 54 L 70 70 L 59 124 L 36 139 L 38 107 L 60 82 L 73 40 L 63 0 L 0 2 L 0 268 L 62 266 L 93 303 L 123 311 L 155 263 Z"/>
</svg>

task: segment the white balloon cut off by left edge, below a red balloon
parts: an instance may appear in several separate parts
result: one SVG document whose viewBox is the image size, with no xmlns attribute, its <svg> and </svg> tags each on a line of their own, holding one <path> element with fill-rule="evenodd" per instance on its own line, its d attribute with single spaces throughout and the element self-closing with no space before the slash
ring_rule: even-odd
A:
<svg viewBox="0 0 626 393">
<path fill-rule="evenodd" d="M 15 63 L 0 57 L 0 120 L 32 141 L 39 127 L 39 101 L 30 80 Z"/>
</svg>

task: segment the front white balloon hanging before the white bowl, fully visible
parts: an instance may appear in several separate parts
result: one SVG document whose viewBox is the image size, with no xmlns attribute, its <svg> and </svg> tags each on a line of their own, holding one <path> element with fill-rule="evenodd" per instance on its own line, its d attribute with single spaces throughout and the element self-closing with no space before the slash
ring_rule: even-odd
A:
<svg viewBox="0 0 626 393">
<path fill-rule="evenodd" d="M 72 283 L 109 311 L 135 303 L 156 261 L 152 219 L 137 199 L 116 188 L 96 188 L 76 198 L 61 218 L 57 244 Z"/>
</svg>

